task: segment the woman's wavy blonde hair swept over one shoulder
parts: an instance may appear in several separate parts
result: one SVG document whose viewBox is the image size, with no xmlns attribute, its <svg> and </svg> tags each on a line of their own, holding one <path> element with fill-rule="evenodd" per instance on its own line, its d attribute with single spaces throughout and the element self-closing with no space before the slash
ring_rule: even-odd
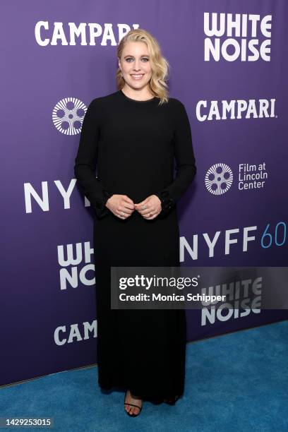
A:
<svg viewBox="0 0 288 432">
<path fill-rule="evenodd" d="M 143 28 L 130 30 L 124 37 L 122 37 L 117 47 L 117 57 L 120 60 L 126 42 L 145 42 L 148 47 L 150 55 L 150 63 L 152 68 L 152 76 L 149 81 L 150 91 L 152 95 L 160 98 L 159 104 L 168 102 L 168 85 L 166 83 L 169 74 L 169 63 L 167 59 L 162 56 L 160 45 L 155 37 L 144 30 Z M 124 88 L 125 80 L 121 76 L 121 69 L 118 67 L 116 71 L 116 85 L 119 90 Z"/>
</svg>

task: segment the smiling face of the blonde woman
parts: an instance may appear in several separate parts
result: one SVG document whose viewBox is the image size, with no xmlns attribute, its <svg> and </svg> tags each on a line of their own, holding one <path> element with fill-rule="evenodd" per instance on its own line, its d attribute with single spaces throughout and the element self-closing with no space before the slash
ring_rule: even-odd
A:
<svg viewBox="0 0 288 432">
<path fill-rule="evenodd" d="M 148 46 L 145 42 L 126 42 L 119 68 L 126 85 L 135 90 L 145 88 L 152 76 Z"/>
</svg>

